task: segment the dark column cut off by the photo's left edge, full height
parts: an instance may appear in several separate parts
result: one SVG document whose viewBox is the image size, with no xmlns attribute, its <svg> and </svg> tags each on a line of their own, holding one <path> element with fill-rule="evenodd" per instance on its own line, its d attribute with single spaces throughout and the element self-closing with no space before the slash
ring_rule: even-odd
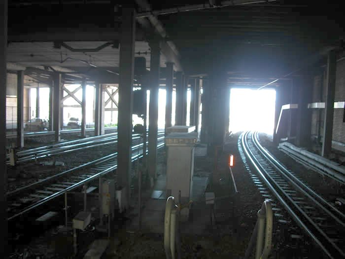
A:
<svg viewBox="0 0 345 259">
<path fill-rule="evenodd" d="M 7 0 L 0 1 L 0 255 L 6 258 L 7 248 L 7 202 L 5 193 L 7 192 L 6 175 L 6 52 L 7 52 Z"/>
</svg>

